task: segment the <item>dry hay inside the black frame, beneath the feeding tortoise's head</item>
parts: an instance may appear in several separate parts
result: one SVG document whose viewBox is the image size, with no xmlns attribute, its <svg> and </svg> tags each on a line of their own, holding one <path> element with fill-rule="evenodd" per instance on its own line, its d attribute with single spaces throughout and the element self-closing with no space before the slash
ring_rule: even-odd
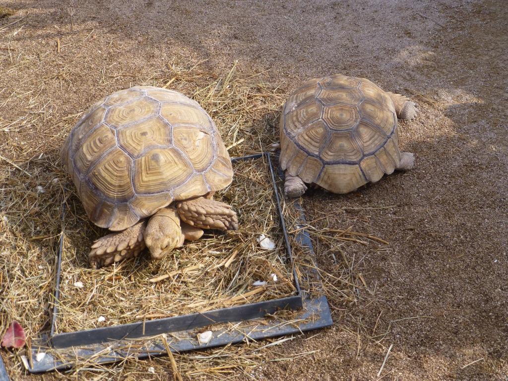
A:
<svg viewBox="0 0 508 381">
<path fill-rule="evenodd" d="M 65 230 L 57 331 L 203 312 L 292 294 L 292 272 L 268 163 L 264 157 L 237 162 L 234 171 L 233 183 L 216 196 L 237 210 L 239 230 L 226 235 L 208 231 L 161 261 L 140 256 L 113 268 L 91 270 L 86 256 L 96 237 L 74 229 L 79 225 L 71 221 L 69 232 Z M 260 234 L 270 237 L 276 249 L 259 247 Z M 270 274 L 277 275 L 277 282 Z M 256 280 L 268 284 L 255 287 Z M 98 323 L 100 316 L 106 321 Z"/>
</svg>

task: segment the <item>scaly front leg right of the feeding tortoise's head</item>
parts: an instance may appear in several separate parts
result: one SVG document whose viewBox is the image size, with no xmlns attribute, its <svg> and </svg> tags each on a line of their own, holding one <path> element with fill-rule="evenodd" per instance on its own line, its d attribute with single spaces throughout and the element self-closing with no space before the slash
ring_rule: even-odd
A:
<svg viewBox="0 0 508 381">
<path fill-rule="evenodd" d="M 231 206 L 223 202 L 198 197 L 179 201 L 176 208 L 180 218 L 190 226 L 201 229 L 237 230 L 238 217 Z"/>
</svg>

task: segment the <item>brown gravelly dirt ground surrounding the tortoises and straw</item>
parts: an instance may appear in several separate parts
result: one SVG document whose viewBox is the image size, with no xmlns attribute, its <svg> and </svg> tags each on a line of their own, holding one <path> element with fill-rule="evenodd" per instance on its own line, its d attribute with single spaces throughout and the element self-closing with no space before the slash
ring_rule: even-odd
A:
<svg viewBox="0 0 508 381">
<path fill-rule="evenodd" d="M 506 2 L 8 0 L 2 6 L 16 10 L 0 19 L 0 133 L 19 141 L 0 154 L 14 163 L 40 147 L 57 149 L 53 121 L 76 119 L 97 99 L 146 83 L 172 60 L 206 60 L 201 66 L 216 73 L 239 60 L 241 71 L 263 72 L 286 93 L 306 79 L 342 73 L 413 98 L 421 113 L 400 123 L 400 145 L 416 153 L 414 170 L 346 196 L 316 190 L 303 198 L 314 228 L 328 221 L 326 227 L 353 226 L 390 242 L 341 247 L 366 283 L 356 289 L 356 303 L 331 299 L 332 328 L 277 346 L 279 357 L 311 354 L 224 377 L 508 379 Z M 5 130 L 27 111 L 44 112 L 37 128 Z M 23 153 L 27 146 L 30 154 Z M 334 274 L 338 251 L 314 244 L 320 266 Z M 160 375 L 147 373 L 148 366 L 137 363 L 152 377 L 143 379 L 172 379 L 168 365 Z M 81 379 L 126 379 L 122 369 Z M 53 377 L 64 376 L 26 379 Z"/>
</svg>

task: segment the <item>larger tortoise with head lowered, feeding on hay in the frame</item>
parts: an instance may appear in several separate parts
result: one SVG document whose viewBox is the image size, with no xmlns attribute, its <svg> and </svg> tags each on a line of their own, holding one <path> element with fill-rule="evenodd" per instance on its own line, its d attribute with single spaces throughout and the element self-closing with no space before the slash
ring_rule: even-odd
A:
<svg viewBox="0 0 508 381">
<path fill-rule="evenodd" d="M 61 150 L 93 224 L 93 268 L 137 256 L 164 258 L 202 229 L 235 230 L 231 206 L 212 199 L 233 179 L 231 159 L 203 108 L 183 94 L 136 86 L 91 106 Z M 148 218 L 149 217 L 149 218 Z"/>
</svg>

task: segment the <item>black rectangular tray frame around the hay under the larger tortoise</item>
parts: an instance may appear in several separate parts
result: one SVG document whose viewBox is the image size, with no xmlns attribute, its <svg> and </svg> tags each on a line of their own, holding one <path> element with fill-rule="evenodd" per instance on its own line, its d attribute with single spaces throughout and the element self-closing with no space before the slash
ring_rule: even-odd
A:
<svg viewBox="0 0 508 381">
<path fill-rule="evenodd" d="M 51 320 L 51 329 L 49 335 L 42 334 L 34 340 L 31 347 L 31 361 L 28 364 L 28 371 L 31 373 L 46 372 L 55 369 L 67 369 L 72 367 L 73 360 L 55 359 L 49 353 L 41 361 L 36 361 L 36 355 L 40 352 L 46 352 L 49 348 L 59 351 L 62 358 L 71 355 L 71 359 L 78 357 L 92 358 L 95 363 L 107 363 L 123 360 L 126 357 L 136 356 L 144 358 L 148 356 L 163 355 L 167 353 L 168 348 L 172 352 L 183 352 L 197 350 L 205 347 L 225 345 L 228 343 L 240 342 L 248 339 L 261 339 L 272 336 L 280 336 L 302 331 L 322 328 L 332 324 L 330 309 L 326 297 L 321 296 L 312 298 L 309 290 L 301 290 L 300 282 L 293 262 L 293 253 L 285 227 L 280 199 L 275 182 L 275 174 L 270 160 L 269 153 L 261 153 L 244 157 L 233 158 L 232 162 L 251 160 L 265 157 L 270 169 L 273 190 L 277 202 L 280 224 L 284 236 L 288 259 L 292 266 L 293 276 L 296 287 L 296 295 L 272 299 L 264 302 L 248 303 L 240 306 L 221 308 L 202 313 L 191 313 L 181 316 L 166 317 L 164 319 L 155 319 L 150 321 L 141 321 L 130 324 L 122 324 L 112 327 L 103 327 L 83 331 L 55 334 L 55 322 L 58 313 L 59 294 L 60 294 L 60 268 L 63 250 L 63 235 L 60 236 L 58 258 L 56 263 L 56 282 L 53 304 L 53 315 Z M 299 204 L 295 204 L 300 212 L 301 226 L 305 224 L 303 209 Z M 299 226 L 300 227 L 300 226 Z M 305 229 L 299 230 L 296 235 L 297 242 L 302 246 L 307 246 L 309 252 L 313 254 L 312 243 L 308 232 Z M 304 274 L 304 276 L 313 276 L 315 274 Z M 207 344 L 201 344 L 194 339 L 196 330 L 211 324 L 233 323 L 249 321 L 273 314 L 281 309 L 298 310 L 299 312 L 292 316 L 294 324 L 281 324 L 274 320 L 264 325 L 262 330 L 257 330 L 254 326 L 244 328 L 219 329 L 214 332 L 214 336 Z M 175 335 L 184 339 L 168 339 L 168 342 L 162 342 L 162 334 Z M 155 336 L 155 337 L 154 337 Z M 137 348 L 135 353 L 132 351 L 130 340 L 146 340 L 147 342 Z M 155 342 L 157 341 L 158 342 Z M 86 348 L 80 346 L 86 345 Z M 127 348 L 125 350 L 125 348 Z M 61 351 L 60 351 L 61 350 Z M 61 352 L 61 353 L 60 353 Z"/>
</svg>

